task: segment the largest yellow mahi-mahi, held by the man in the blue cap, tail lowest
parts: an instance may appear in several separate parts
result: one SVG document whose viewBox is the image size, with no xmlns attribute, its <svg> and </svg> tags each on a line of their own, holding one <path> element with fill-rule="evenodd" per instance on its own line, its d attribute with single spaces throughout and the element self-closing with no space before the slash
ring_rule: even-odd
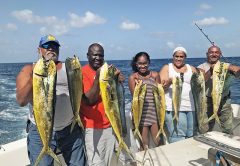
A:
<svg viewBox="0 0 240 166">
<path fill-rule="evenodd" d="M 53 131 L 56 76 L 54 61 L 40 58 L 33 69 L 33 114 L 43 148 L 35 165 L 39 164 L 45 154 L 50 155 L 60 164 L 60 160 L 49 146 Z"/>
</svg>

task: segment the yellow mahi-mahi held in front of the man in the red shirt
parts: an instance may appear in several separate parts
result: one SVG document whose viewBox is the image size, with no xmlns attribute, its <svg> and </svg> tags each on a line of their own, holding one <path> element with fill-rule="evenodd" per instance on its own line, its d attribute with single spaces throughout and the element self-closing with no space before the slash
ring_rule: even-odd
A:
<svg viewBox="0 0 240 166">
<path fill-rule="evenodd" d="M 124 149 L 130 155 L 130 157 L 133 158 L 133 155 L 131 154 L 122 137 L 116 79 L 114 76 L 115 70 L 113 68 L 113 66 L 108 66 L 106 62 L 101 67 L 99 77 L 101 97 L 105 114 L 118 140 L 117 157 L 119 157 L 121 150 Z"/>
</svg>

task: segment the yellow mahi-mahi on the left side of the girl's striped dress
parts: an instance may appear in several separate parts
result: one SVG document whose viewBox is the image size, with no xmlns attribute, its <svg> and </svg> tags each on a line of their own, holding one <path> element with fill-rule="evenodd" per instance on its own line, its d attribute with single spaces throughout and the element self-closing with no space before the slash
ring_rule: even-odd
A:
<svg viewBox="0 0 240 166">
<path fill-rule="evenodd" d="M 147 91 L 147 85 L 143 84 L 142 80 L 138 80 L 134 88 L 133 99 L 132 99 L 132 114 L 134 123 L 134 133 L 133 135 L 141 140 L 142 136 L 139 131 L 139 125 L 142 117 L 143 103 Z"/>
</svg>

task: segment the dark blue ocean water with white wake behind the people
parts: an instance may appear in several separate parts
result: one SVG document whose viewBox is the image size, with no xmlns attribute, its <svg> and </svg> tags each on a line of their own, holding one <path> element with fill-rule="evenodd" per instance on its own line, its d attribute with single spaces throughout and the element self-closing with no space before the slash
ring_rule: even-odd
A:
<svg viewBox="0 0 240 166">
<path fill-rule="evenodd" d="M 205 58 L 188 58 L 186 63 L 198 66 Z M 239 57 L 228 57 L 228 62 L 240 66 Z M 159 71 L 172 59 L 152 59 L 150 68 Z M 87 62 L 81 62 L 82 65 Z M 0 145 L 26 137 L 25 127 L 28 107 L 20 107 L 16 102 L 16 76 L 26 63 L 0 64 Z M 128 76 L 132 73 L 129 60 L 108 61 L 117 66 L 126 76 L 124 82 L 126 109 L 130 109 L 131 96 L 128 90 Z M 231 86 L 232 103 L 240 104 L 240 80 L 235 79 Z"/>
</svg>

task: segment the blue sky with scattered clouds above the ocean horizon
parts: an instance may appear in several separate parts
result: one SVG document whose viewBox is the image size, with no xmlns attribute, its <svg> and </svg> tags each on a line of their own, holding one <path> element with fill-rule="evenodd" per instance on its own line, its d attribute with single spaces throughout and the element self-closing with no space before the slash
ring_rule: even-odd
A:
<svg viewBox="0 0 240 166">
<path fill-rule="evenodd" d="M 0 63 L 33 62 L 39 39 L 53 34 L 60 59 L 86 60 L 88 46 L 101 43 L 105 59 L 131 59 L 146 51 L 152 59 L 171 58 L 176 46 L 188 57 L 205 57 L 209 41 L 223 55 L 239 56 L 240 1 L 234 0 L 1 0 Z"/>
</svg>

